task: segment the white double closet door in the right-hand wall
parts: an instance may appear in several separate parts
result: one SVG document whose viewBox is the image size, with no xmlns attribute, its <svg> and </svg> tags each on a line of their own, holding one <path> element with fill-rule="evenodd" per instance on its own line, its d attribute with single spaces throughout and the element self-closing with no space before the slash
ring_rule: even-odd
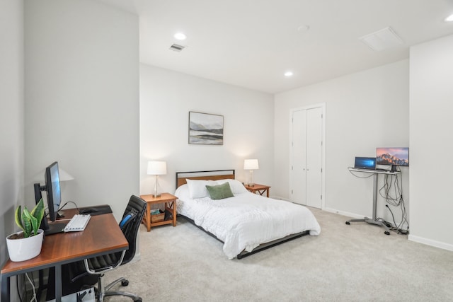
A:
<svg viewBox="0 0 453 302">
<path fill-rule="evenodd" d="M 292 202 L 322 207 L 323 109 L 292 113 Z"/>
</svg>

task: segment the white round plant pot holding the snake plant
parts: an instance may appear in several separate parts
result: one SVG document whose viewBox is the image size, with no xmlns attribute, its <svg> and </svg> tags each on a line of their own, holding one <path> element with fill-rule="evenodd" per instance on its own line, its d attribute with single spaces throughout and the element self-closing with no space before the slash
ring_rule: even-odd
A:
<svg viewBox="0 0 453 302">
<path fill-rule="evenodd" d="M 40 255 L 44 231 L 38 230 L 38 235 L 21 239 L 9 239 L 11 235 L 6 237 L 6 245 L 8 246 L 9 259 L 11 261 L 25 261 Z"/>
</svg>

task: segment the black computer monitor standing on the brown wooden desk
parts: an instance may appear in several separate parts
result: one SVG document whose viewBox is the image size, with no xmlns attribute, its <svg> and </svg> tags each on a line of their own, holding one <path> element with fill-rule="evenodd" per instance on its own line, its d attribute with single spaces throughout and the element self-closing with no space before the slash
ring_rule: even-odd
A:
<svg viewBox="0 0 453 302">
<path fill-rule="evenodd" d="M 45 168 L 45 185 L 41 186 L 39 182 L 35 183 L 35 202 L 38 204 L 42 198 L 42 191 L 47 192 L 47 209 L 49 211 L 50 221 L 55 221 L 58 216 L 59 205 L 62 202 L 62 195 L 59 187 L 59 170 L 58 163 L 55 161 Z M 41 226 L 47 235 L 61 233 L 67 222 L 48 223 L 47 216 L 42 217 Z"/>
</svg>

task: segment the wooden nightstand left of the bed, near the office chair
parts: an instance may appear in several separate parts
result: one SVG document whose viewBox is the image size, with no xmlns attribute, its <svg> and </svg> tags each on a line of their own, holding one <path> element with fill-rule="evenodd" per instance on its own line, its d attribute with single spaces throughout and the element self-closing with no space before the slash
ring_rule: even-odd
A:
<svg viewBox="0 0 453 302">
<path fill-rule="evenodd" d="M 176 199 L 178 197 L 170 193 L 162 193 L 160 197 L 153 197 L 153 195 L 148 194 L 140 195 L 140 198 L 147 202 L 147 213 L 144 216 L 144 223 L 148 231 L 151 231 L 151 226 L 163 226 L 164 224 L 176 226 Z M 151 204 L 165 204 L 165 211 L 169 211 L 172 217 L 163 221 L 151 222 Z"/>
</svg>

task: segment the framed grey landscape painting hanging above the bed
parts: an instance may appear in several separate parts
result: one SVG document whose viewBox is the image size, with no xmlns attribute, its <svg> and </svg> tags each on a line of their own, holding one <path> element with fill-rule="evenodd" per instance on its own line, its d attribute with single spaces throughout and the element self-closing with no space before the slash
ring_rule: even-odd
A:
<svg viewBox="0 0 453 302">
<path fill-rule="evenodd" d="M 224 116 L 190 111 L 189 144 L 223 145 Z"/>
</svg>

